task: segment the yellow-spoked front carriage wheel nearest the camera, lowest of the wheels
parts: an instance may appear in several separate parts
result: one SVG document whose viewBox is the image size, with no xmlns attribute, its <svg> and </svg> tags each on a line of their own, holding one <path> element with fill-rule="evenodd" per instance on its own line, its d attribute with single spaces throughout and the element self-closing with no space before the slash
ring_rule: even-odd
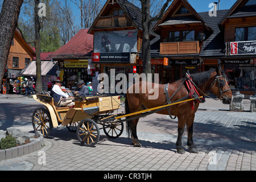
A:
<svg viewBox="0 0 256 182">
<path fill-rule="evenodd" d="M 81 144 L 93 147 L 100 139 L 100 129 L 92 119 L 80 121 L 77 128 L 76 135 Z"/>
</svg>

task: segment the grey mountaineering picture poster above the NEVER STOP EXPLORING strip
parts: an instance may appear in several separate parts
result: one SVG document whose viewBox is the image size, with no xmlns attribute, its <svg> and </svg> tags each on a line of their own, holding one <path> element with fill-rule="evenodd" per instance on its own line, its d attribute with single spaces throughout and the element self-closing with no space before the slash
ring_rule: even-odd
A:
<svg viewBox="0 0 256 182">
<path fill-rule="evenodd" d="M 137 30 L 95 32 L 94 52 L 137 52 Z"/>
</svg>

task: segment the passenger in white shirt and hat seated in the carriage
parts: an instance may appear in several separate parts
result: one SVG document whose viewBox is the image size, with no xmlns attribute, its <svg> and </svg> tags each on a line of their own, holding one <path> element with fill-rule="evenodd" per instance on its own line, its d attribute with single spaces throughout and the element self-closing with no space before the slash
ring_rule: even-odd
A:
<svg viewBox="0 0 256 182">
<path fill-rule="evenodd" d="M 61 90 L 61 81 L 55 80 L 55 84 L 52 87 L 51 90 L 51 96 L 53 97 L 54 104 L 56 106 L 68 106 L 68 107 L 74 107 L 75 102 L 73 102 L 74 97 L 69 97 L 67 94 L 67 90 L 62 91 Z"/>
</svg>

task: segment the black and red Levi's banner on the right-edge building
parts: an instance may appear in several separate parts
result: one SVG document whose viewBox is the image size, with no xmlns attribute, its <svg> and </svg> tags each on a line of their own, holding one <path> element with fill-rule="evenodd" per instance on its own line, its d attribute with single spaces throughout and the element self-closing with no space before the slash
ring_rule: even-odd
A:
<svg viewBox="0 0 256 182">
<path fill-rule="evenodd" d="M 256 41 L 231 42 L 230 55 L 256 54 Z"/>
</svg>

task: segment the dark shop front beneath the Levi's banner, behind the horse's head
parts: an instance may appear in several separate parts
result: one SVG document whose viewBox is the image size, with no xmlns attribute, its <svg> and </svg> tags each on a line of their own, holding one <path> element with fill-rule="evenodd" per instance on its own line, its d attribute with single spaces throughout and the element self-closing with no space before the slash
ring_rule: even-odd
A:
<svg viewBox="0 0 256 182">
<path fill-rule="evenodd" d="M 256 84 L 256 59 L 223 60 L 229 87 L 241 93 L 254 94 Z"/>
</svg>

